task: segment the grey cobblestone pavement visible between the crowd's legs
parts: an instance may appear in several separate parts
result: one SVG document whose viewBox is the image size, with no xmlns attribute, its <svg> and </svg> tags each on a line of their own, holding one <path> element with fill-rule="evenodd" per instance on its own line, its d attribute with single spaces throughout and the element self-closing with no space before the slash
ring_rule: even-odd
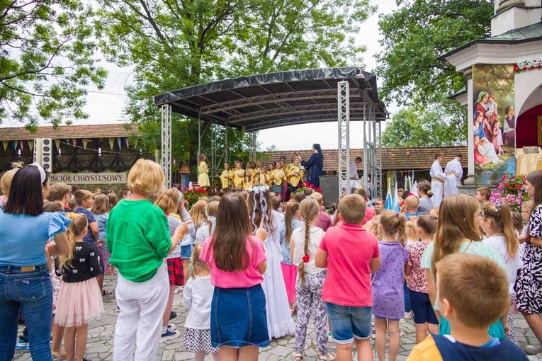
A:
<svg viewBox="0 0 542 361">
<path fill-rule="evenodd" d="M 105 288 L 108 290 L 114 290 L 115 288 L 115 277 L 106 276 Z M 85 357 L 89 360 L 113 360 L 113 335 L 115 332 L 115 321 L 117 318 L 117 309 L 115 304 L 115 295 L 114 292 L 111 295 L 103 297 L 103 306 L 106 310 L 105 314 L 102 314 L 101 319 L 92 321 L 89 324 L 89 340 L 86 344 L 86 355 Z M 176 319 L 171 320 L 172 323 L 175 323 L 177 329 L 181 331 L 181 336 L 174 340 L 170 340 L 166 343 L 161 343 L 158 349 L 157 360 L 193 360 L 193 353 L 186 351 L 182 343 L 182 333 L 184 332 L 184 320 L 186 319 L 187 310 L 181 304 L 181 296 L 179 294 L 175 295 L 174 299 L 174 311 L 177 312 Z M 533 332 L 527 325 L 526 321 L 523 319 L 523 316 L 517 314 L 515 316 L 515 322 L 517 338 L 521 347 L 525 345 L 538 345 L 538 340 L 534 336 Z M 19 329 L 22 332 L 22 328 Z M 398 361 L 406 360 L 407 356 L 410 354 L 410 350 L 414 347 L 415 336 L 414 336 L 414 323 L 412 320 L 402 319 L 400 323 L 401 331 L 401 345 L 399 351 Z M 308 335 L 307 335 L 307 348 L 305 350 L 304 361 L 313 361 L 317 360 L 317 347 L 315 343 L 315 330 L 314 325 L 311 323 L 308 326 Z M 271 345 L 268 348 L 262 348 L 259 354 L 259 360 L 292 360 L 291 353 L 295 346 L 295 338 L 293 336 L 287 336 L 279 338 L 278 340 L 273 339 Z M 335 344 L 330 340 L 329 350 L 334 353 Z M 357 355 L 354 355 L 354 360 L 357 360 Z M 32 360 L 30 353 L 26 352 L 16 352 L 15 358 L 16 361 L 26 361 Z M 213 357 L 208 357 L 205 360 L 213 360 Z M 376 351 L 375 351 L 375 360 Z"/>
</svg>

